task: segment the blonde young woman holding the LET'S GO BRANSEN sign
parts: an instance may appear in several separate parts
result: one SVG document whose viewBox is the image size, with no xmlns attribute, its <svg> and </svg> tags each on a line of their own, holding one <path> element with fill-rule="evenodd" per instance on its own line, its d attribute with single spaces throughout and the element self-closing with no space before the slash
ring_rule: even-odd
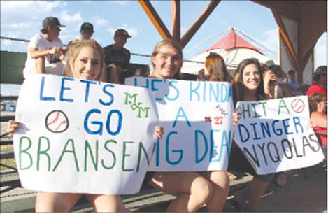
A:
<svg viewBox="0 0 328 214">
<path fill-rule="evenodd" d="M 65 76 L 85 80 L 106 80 L 103 49 L 93 39 L 73 41 L 66 53 L 65 61 Z M 20 122 L 10 120 L 7 132 L 13 135 L 18 127 Z M 160 138 L 162 129 L 156 127 L 155 134 Z M 59 192 L 38 192 L 35 209 L 36 212 L 69 212 L 83 195 L 96 212 L 129 212 L 119 195 Z"/>
</svg>

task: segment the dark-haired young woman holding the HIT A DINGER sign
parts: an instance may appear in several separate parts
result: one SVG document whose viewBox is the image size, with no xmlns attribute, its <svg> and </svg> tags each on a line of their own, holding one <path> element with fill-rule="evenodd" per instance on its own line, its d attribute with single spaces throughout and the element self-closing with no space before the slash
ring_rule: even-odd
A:
<svg viewBox="0 0 328 214">
<path fill-rule="evenodd" d="M 269 84 L 278 87 L 276 74 L 271 70 L 262 73 L 259 61 L 255 58 L 244 59 L 238 65 L 234 77 L 235 103 L 273 98 L 274 95 L 270 94 Z M 238 118 L 234 118 L 235 124 L 237 121 Z M 233 205 L 238 209 L 246 208 L 245 202 L 249 200 L 248 211 L 257 211 L 259 199 L 271 183 L 274 173 L 257 175 L 241 150 L 234 144 L 231 148 L 229 170 L 248 172 L 254 176 L 250 185 L 235 193 Z"/>
</svg>

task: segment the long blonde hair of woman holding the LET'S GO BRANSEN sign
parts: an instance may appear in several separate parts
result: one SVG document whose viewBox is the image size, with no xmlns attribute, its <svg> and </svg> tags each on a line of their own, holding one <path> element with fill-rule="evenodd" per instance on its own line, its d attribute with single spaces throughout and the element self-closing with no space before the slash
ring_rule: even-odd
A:
<svg viewBox="0 0 328 214">
<path fill-rule="evenodd" d="M 99 76 L 96 78 L 96 80 L 106 81 L 106 66 L 104 64 L 104 50 L 103 48 L 101 48 L 101 45 L 99 45 L 99 43 L 97 43 L 97 41 L 95 41 L 92 38 L 75 39 L 69 44 L 64 59 L 66 62 L 64 76 L 73 77 L 73 68 L 71 68 L 71 65 L 76 60 L 76 57 L 78 57 L 78 53 L 80 52 L 80 50 L 84 47 L 90 47 L 99 52 L 101 72 L 99 73 Z"/>
</svg>

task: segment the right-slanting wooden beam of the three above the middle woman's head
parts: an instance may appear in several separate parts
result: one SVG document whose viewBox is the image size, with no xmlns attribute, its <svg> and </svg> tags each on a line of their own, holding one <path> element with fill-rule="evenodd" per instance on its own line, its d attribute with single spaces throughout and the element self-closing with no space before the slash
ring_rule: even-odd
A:
<svg viewBox="0 0 328 214">
<path fill-rule="evenodd" d="M 180 44 L 182 45 L 183 48 L 185 48 L 185 45 L 187 45 L 187 43 L 190 41 L 192 36 L 196 34 L 198 29 L 201 27 L 201 24 L 203 24 L 205 20 L 208 18 L 208 16 L 211 15 L 211 13 L 215 9 L 215 7 L 218 6 L 220 1 L 221 0 L 211 0 L 211 2 L 208 3 L 208 6 L 205 8 L 205 10 L 203 10 L 201 15 L 199 15 L 196 22 L 192 24 L 192 27 L 190 27 L 190 29 L 188 29 L 185 35 L 183 35 L 183 37 L 181 38 Z"/>
</svg>

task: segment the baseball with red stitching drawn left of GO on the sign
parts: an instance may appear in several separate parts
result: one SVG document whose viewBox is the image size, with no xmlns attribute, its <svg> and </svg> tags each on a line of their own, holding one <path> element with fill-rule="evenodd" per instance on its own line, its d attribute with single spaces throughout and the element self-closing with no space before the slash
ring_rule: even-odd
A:
<svg viewBox="0 0 328 214">
<path fill-rule="evenodd" d="M 52 110 L 45 117 L 45 127 L 53 133 L 61 133 L 69 127 L 69 119 L 62 110 Z"/>
</svg>

